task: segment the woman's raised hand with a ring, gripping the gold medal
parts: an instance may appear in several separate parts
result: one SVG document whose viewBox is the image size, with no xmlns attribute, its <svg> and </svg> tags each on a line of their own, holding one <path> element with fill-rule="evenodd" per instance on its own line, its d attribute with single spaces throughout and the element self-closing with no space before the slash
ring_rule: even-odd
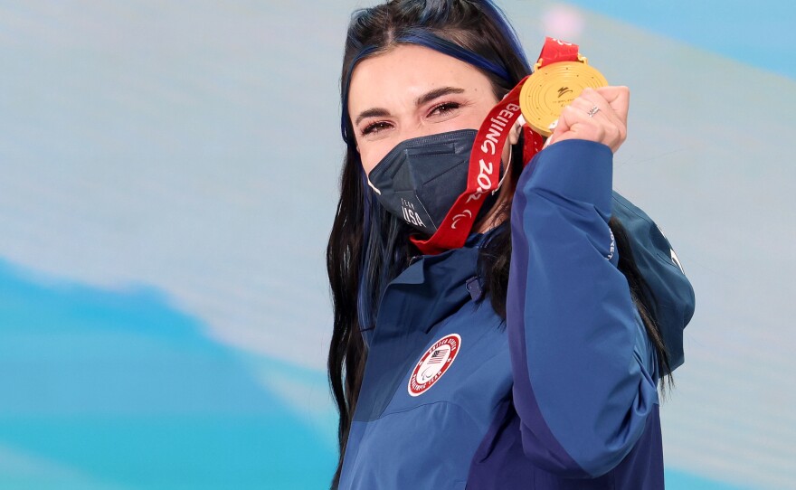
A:
<svg viewBox="0 0 796 490">
<path fill-rule="evenodd" d="M 585 89 L 562 110 L 545 146 L 564 139 L 586 139 L 610 146 L 616 153 L 628 135 L 629 105 L 627 87 Z"/>
</svg>

